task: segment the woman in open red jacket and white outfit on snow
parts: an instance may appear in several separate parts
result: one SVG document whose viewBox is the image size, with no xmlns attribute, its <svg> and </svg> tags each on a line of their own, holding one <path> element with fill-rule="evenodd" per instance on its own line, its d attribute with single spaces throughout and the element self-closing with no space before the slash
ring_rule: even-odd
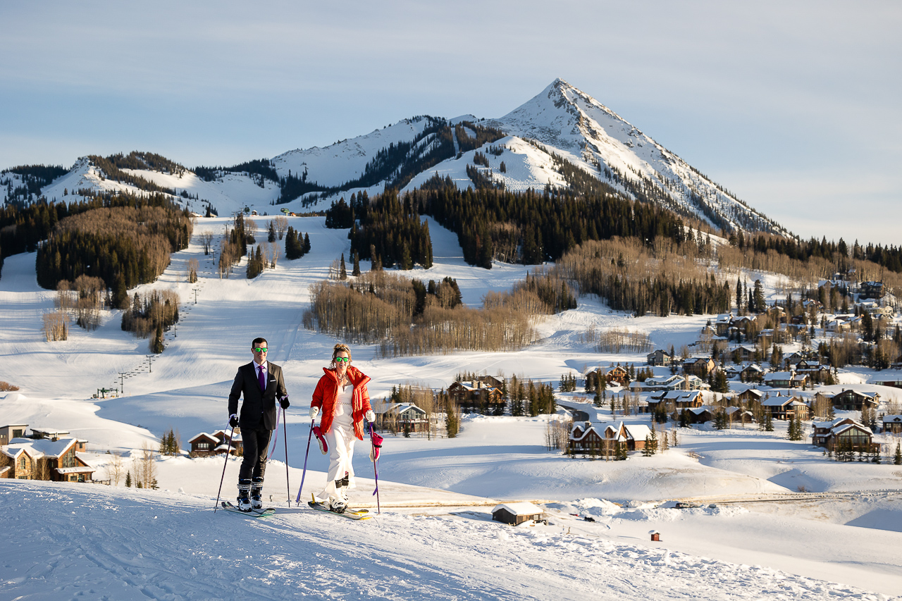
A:
<svg viewBox="0 0 902 601">
<path fill-rule="evenodd" d="M 317 498 L 340 513 L 347 507 L 347 489 L 356 487 L 351 463 L 354 437 L 364 439 L 364 418 L 373 421 L 375 415 L 366 391 L 370 378 L 351 366 L 350 348 L 337 344 L 332 350 L 332 363 L 323 367 L 323 372 L 310 402 L 311 420 L 322 413 L 319 428 L 329 448 L 326 488 Z"/>
</svg>

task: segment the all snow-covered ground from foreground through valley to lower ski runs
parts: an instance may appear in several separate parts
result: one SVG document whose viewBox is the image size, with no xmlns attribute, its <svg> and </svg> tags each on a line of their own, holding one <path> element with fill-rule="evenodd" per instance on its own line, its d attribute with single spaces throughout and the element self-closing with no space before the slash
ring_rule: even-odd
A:
<svg viewBox="0 0 902 601">
<path fill-rule="evenodd" d="M 264 208 L 262 205 L 260 208 Z M 254 217 L 264 236 L 269 217 Z M 836 463 L 785 428 L 679 431 L 679 445 L 629 461 L 565 458 L 545 447 L 548 417 L 465 418 L 456 439 L 388 437 L 380 463 L 382 514 L 368 522 L 289 506 L 298 493 L 308 439 L 310 394 L 336 340 L 300 325 L 310 284 L 345 253 L 346 230 L 320 217 L 290 217 L 308 233 L 310 254 L 244 278 L 244 263 L 220 280 L 198 244 L 226 219 L 199 219 L 194 243 L 174 254 L 159 282 L 182 300 L 176 331 L 153 359 L 148 341 L 121 330 L 119 311 L 87 333 L 47 343 L 41 314 L 54 293 L 34 277 L 34 254 L 6 259 L 0 279 L 0 425 L 69 430 L 88 440 L 83 455 L 107 477 L 111 456 L 156 444 L 170 428 L 183 446 L 198 432 L 226 427 L 235 369 L 266 337 L 283 366 L 288 461 L 282 431 L 264 497 L 265 520 L 212 511 L 223 467 L 223 496 L 235 496 L 237 460 L 160 458 L 160 490 L 0 479 L 8 536 L 0 549 L 0 599 L 887 599 L 902 594 L 902 468 Z M 429 224 L 435 265 L 410 277 L 456 278 L 470 306 L 507 290 L 527 268 L 490 272 L 463 262 L 456 236 Z M 197 258 L 200 281 L 186 281 Z M 368 269 L 366 262 L 362 269 Z M 772 293 L 772 290 L 770 291 Z M 195 295 L 197 302 L 195 304 Z M 516 353 L 466 352 L 377 359 L 352 347 L 354 364 L 381 398 L 393 385 L 445 387 L 457 373 L 523 375 L 557 384 L 561 374 L 644 355 L 600 355 L 588 328 L 647 332 L 655 347 L 695 340 L 711 316 L 633 319 L 594 299 L 538 324 L 541 339 Z M 861 374 L 846 377 L 861 380 Z M 113 399 L 99 388 L 124 386 Z M 880 390 L 884 399 L 895 392 Z M 560 401 L 612 421 L 580 394 Z M 565 410 L 559 410 L 564 414 Z M 616 418 L 619 421 L 621 418 Z M 648 423 L 647 417 L 630 417 Z M 140 452 L 140 451 L 139 451 Z M 137 455 L 138 453 L 134 453 Z M 313 445 L 303 496 L 323 485 L 326 458 Z M 373 467 L 364 443 L 352 503 L 373 506 Z M 286 484 L 286 478 L 289 484 Z M 807 493 L 799 491 L 805 489 Z M 676 499 L 695 509 L 676 509 Z M 512 528 L 491 521 L 499 501 L 542 504 L 548 525 Z M 715 506 L 710 507 L 710 504 Z M 592 518 L 594 522 L 585 518 Z M 661 533 L 650 541 L 649 531 Z"/>
</svg>

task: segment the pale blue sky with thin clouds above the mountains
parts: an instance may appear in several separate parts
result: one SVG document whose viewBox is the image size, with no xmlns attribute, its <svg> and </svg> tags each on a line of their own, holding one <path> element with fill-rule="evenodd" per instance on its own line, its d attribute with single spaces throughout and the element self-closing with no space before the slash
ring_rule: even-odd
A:
<svg viewBox="0 0 902 601">
<path fill-rule="evenodd" d="M 0 168 L 235 164 L 561 77 L 801 236 L 902 244 L 902 4 L 0 3 Z"/>
</svg>

